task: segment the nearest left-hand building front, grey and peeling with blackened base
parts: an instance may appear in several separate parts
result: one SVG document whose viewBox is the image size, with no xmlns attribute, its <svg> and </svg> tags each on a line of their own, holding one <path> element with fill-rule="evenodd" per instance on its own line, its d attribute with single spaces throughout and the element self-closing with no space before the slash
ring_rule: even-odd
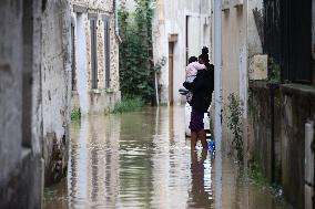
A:
<svg viewBox="0 0 315 209">
<path fill-rule="evenodd" d="M 69 2 L 4 0 L 0 10 L 0 208 L 41 208 L 44 185 L 68 166 Z"/>
</svg>

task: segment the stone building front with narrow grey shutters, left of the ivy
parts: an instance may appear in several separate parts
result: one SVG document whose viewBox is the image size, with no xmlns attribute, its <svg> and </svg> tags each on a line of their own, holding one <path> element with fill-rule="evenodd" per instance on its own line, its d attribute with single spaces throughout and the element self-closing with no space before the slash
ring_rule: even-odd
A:
<svg viewBox="0 0 315 209">
<path fill-rule="evenodd" d="M 116 1 L 71 1 L 72 108 L 108 112 L 120 101 Z"/>
</svg>

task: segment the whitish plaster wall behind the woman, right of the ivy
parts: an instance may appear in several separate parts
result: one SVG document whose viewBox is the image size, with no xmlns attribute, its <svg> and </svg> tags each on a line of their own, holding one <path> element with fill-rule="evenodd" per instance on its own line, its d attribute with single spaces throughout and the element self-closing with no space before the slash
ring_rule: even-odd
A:
<svg viewBox="0 0 315 209">
<path fill-rule="evenodd" d="M 153 55 L 156 63 L 160 59 L 165 56 L 169 60 L 169 35 L 177 34 L 177 41 L 174 43 L 174 81 L 173 81 L 173 100 L 174 104 L 180 104 L 185 101 L 179 94 L 179 88 L 185 79 L 186 65 L 186 15 L 190 15 L 192 28 L 191 35 L 194 34 L 190 43 L 189 54 L 199 56 L 203 45 L 210 48 L 211 51 L 211 1 L 189 1 L 189 0 L 160 0 L 155 9 L 153 19 Z M 205 23 L 209 25 L 206 27 Z M 193 33 L 194 32 L 194 33 Z M 211 55 L 211 53 L 210 53 Z M 162 67 L 159 75 L 159 83 L 161 84 L 160 100 L 161 103 L 169 102 L 169 61 Z"/>
</svg>

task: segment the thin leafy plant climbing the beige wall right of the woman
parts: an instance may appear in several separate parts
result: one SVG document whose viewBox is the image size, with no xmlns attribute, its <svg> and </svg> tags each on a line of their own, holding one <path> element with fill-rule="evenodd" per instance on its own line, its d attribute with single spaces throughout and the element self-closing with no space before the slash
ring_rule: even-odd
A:
<svg viewBox="0 0 315 209">
<path fill-rule="evenodd" d="M 242 114 L 243 108 L 241 107 L 241 101 L 237 95 L 231 93 L 227 97 L 227 127 L 233 133 L 232 146 L 236 150 L 236 157 L 240 163 L 243 161 L 243 123 Z"/>
</svg>

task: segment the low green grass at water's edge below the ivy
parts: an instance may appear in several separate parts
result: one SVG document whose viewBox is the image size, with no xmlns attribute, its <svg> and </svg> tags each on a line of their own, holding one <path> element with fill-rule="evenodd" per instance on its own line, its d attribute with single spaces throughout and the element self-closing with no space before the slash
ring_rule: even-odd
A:
<svg viewBox="0 0 315 209">
<path fill-rule="evenodd" d="M 139 111 L 143 107 L 144 102 L 141 97 L 124 97 L 121 102 L 116 103 L 112 113 L 125 113 Z"/>
</svg>

